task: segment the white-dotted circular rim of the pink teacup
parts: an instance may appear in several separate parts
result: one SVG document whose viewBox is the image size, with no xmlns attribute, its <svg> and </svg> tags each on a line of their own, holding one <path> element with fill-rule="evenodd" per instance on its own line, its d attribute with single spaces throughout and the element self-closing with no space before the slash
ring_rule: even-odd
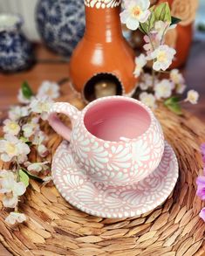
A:
<svg viewBox="0 0 205 256">
<path fill-rule="evenodd" d="M 130 102 L 133 102 L 137 105 L 140 105 L 140 107 L 143 107 L 144 110 L 146 110 L 147 114 L 149 115 L 150 117 L 150 125 L 149 127 L 147 128 L 147 130 L 139 135 L 137 138 L 134 138 L 134 139 L 128 139 L 127 140 L 121 140 L 121 141 L 118 141 L 118 142 L 115 142 L 115 141 L 106 141 L 106 140 L 103 140 L 103 139 L 100 139 L 99 137 L 95 136 L 95 135 L 92 135 L 92 133 L 85 127 L 85 114 L 86 112 L 91 108 L 93 107 L 94 105 L 98 104 L 99 102 L 101 101 L 106 101 L 106 100 L 113 100 L 113 99 L 116 99 L 116 100 L 126 100 L 126 101 L 130 101 Z M 118 144 L 118 143 L 127 143 L 127 142 L 136 142 L 136 141 L 139 141 L 139 139 L 142 137 L 142 135 L 148 135 L 150 133 L 150 130 L 153 129 L 154 127 L 154 123 L 156 121 L 156 118 L 154 116 L 154 113 L 151 111 L 151 109 L 149 107 L 147 107 L 144 103 L 142 103 L 140 100 L 135 100 L 133 98 L 130 98 L 130 97 L 127 97 L 127 96 L 120 96 L 120 95 L 116 95 L 116 96 L 107 96 L 107 97 L 103 97 L 103 98 L 99 98 L 97 100 L 93 100 L 92 102 L 90 102 L 84 109 L 83 111 L 81 112 L 80 114 L 80 122 L 82 124 L 82 127 L 85 129 L 85 131 L 90 135 L 92 136 L 92 138 L 95 140 L 95 141 L 98 141 L 98 142 L 106 142 L 106 143 L 110 143 L 110 144 Z"/>
</svg>

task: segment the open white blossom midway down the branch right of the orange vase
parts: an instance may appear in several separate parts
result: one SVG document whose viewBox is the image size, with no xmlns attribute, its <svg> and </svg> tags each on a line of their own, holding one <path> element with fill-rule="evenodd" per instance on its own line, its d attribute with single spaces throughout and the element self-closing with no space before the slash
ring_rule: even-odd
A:
<svg viewBox="0 0 205 256">
<path fill-rule="evenodd" d="M 172 64 L 175 53 L 176 51 L 168 45 L 160 45 L 154 52 L 151 52 L 150 59 L 154 59 L 154 70 L 165 71 Z"/>
</svg>

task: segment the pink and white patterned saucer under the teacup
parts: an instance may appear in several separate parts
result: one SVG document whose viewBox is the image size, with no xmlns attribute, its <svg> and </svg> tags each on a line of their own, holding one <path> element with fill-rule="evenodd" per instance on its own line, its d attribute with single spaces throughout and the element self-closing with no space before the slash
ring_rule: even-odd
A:
<svg viewBox="0 0 205 256">
<path fill-rule="evenodd" d="M 128 218 L 152 211 L 174 190 L 178 178 L 174 150 L 165 143 L 161 163 L 154 172 L 134 185 L 106 186 L 92 183 L 72 158 L 69 142 L 62 142 L 53 157 L 51 173 L 65 200 L 88 214 L 103 218 Z"/>
</svg>

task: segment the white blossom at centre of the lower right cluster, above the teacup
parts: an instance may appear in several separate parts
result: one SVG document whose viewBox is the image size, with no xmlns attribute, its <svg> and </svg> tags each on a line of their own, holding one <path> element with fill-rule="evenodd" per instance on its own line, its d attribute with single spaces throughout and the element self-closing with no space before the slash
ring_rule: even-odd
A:
<svg viewBox="0 0 205 256">
<path fill-rule="evenodd" d="M 174 84 L 170 80 L 161 80 L 154 86 L 155 97 L 158 100 L 161 100 L 161 98 L 167 99 L 172 95 L 173 88 Z"/>
</svg>

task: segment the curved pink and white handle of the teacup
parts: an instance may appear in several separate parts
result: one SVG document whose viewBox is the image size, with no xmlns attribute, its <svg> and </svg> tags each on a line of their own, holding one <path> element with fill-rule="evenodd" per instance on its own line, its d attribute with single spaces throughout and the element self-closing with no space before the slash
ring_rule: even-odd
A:
<svg viewBox="0 0 205 256">
<path fill-rule="evenodd" d="M 49 111 L 48 121 L 58 135 L 61 135 L 65 140 L 70 141 L 71 139 L 71 129 L 66 127 L 65 124 L 59 120 L 57 113 L 67 115 L 71 121 L 72 125 L 79 118 L 80 111 L 66 102 L 54 103 Z"/>
</svg>

